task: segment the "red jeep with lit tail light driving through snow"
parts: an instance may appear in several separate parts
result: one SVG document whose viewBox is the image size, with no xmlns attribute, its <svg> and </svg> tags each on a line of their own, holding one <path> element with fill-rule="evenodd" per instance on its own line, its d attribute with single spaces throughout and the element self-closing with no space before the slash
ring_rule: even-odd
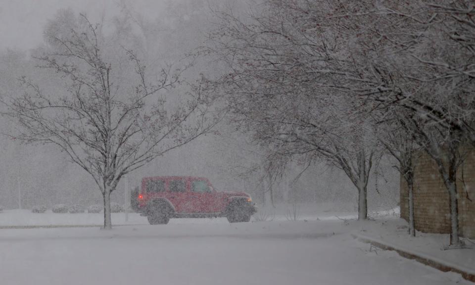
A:
<svg viewBox="0 0 475 285">
<path fill-rule="evenodd" d="M 189 176 L 144 177 L 138 211 L 151 225 L 170 218 L 226 217 L 230 223 L 249 222 L 256 212 L 249 194 L 216 191 L 208 179 Z"/>
</svg>

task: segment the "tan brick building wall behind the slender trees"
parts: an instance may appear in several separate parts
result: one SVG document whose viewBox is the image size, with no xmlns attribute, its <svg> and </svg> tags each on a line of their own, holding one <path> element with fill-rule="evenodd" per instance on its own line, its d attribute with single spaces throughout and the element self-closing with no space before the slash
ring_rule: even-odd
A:
<svg viewBox="0 0 475 285">
<path fill-rule="evenodd" d="M 408 220 L 408 190 L 400 180 L 401 218 Z M 459 234 L 475 238 L 475 150 L 468 153 L 457 172 Z M 437 165 L 427 154 L 418 157 L 414 173 L 414 221 L 424 233 L 450 233 L 450 200 Z"/>
</svg>

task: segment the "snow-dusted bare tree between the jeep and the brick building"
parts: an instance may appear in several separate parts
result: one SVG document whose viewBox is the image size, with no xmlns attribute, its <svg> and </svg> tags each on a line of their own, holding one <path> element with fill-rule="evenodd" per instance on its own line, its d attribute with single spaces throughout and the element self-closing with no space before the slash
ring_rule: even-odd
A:
<svg viewBox="0 0 475 285">
<path fill-rule="evenodd" d="M 336 5 L 337 6 L 337 5 Z M 342 169 L 367 217 L 367 184 L 377 143 L 356 92 L 374 90 L 354 65 L 348 39 L 329 26 L 328 1 L 264 1 L 241 19 L 220 13 L 208 51 L 228 66 L 217 81 L 233 122 L 269 153 L 325 160 Z"/>
</svg>

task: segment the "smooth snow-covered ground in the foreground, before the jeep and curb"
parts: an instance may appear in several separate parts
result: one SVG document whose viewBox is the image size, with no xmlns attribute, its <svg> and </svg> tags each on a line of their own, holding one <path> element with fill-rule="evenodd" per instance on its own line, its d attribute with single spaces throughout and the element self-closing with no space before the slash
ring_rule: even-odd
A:
<svg viewBox="0 0 475 285">
<path fill-rule="evenodd" d="M 368 223 L 176 219 L 112 231 L 2 229 L 1 284 L 473 284 L 351 237 Z"/>
</svg>

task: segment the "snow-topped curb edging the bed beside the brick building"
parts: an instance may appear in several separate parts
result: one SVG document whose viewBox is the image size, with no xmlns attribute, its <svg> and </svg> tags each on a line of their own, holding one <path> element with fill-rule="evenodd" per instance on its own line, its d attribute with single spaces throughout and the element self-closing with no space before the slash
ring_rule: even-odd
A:
<svg viewBox="0 0 475 285">
<path fill-rule="evenodd" d="M 443 271 L 443 272 L 451 271 L 451 272 L 459 273 L 460 275 L 462 275 L 462 277 L 465 280 L 475 282 L 475 272 L 471 270 L 465 270 L 465 269 L 454 267 L 453 265 L 447 264 L 443 261 L 435 260 L 435 258 L 431 258 L 424 254 L 409 252 L 400 247 L 390 245 L 388 243 L 385 243 L 384 241 L 381 241 L 375 238 L 370 238 L 370 237 L 357 235 L 357 234 L 351 234 L 351 236 L 365 243 L 370 243 L 371 245 L 376 246 L 382 250 L 394 250 L 402 257 L 416 260 L 417 262 L 433 267 L 440 271 Z"/>
</svg>

